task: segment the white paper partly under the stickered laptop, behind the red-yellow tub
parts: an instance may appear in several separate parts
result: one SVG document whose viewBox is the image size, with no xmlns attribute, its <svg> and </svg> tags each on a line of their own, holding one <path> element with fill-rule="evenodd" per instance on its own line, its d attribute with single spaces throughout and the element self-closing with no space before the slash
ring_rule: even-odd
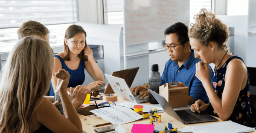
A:
<svg viewBox="0 0 256 133">
<path fill-rule="evenodd" d="M 157 109 L 157 111 L 163 110 L 163 108 L 159 104 L 148 105 L 148 104 L 141 104 L 141 103 L 120 102 L 120 103 L 116 103 L 116 105 L 132 108 L 132 109 L 134 109 L 133 107 L 134 105 L 143 105 L 143 112 L 149 112 L 150 109 L 154 111 L 155 108 Z"/>
</svg>

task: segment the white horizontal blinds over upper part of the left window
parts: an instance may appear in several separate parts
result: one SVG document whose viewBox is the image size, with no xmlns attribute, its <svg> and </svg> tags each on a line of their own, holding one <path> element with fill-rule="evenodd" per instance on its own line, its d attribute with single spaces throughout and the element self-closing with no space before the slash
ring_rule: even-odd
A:
<svg viewBox="0 0 256 133">
<path fill-rule="evenodd" d="M 17 28 L 30 19 L 44 25 L 77 22 L 77 0 L 0 0 L 0 28 Z"/>
</svg>

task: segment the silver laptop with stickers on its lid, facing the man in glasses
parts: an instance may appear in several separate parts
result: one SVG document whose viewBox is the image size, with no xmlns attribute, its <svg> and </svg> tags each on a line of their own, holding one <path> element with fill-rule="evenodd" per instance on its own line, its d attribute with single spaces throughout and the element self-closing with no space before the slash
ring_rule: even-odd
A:
<svg viewBox="0 0 256 133">
<path fill-rule="evenodd" d="M 105 74 L 105 76 L 113 91 L 115 92 L 115 94 L 117 94 L 117 97 L 131 101 L 133 103 L 149 102 L 149 99 L 145 100 L 145 98 L 141 99 L 141 97 L 138 98 L 137 96 L 134 96 L 134 94 L 131 93 L 130 87 L 127 85 L 124 79 L 107 74 Z"/>
</svg>

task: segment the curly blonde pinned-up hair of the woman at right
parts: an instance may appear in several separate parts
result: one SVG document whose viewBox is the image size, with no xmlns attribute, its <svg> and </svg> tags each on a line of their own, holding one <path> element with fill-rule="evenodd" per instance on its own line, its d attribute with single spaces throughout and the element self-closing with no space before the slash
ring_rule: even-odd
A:
<svg viewBox="0 0 256 133">
<path fill-rule="evenodd" d="M 202 8 L 195 17 L 195 23 L 189 28 L 189 38 L 198 40 L 198 43 L 207 47 L 209 42 L 217 42 L 219 48 L 229 51 L 224 42 L 229 37 L 229 30 L 221 20 L 215 18 L 212 11 Z"/>
</svg>

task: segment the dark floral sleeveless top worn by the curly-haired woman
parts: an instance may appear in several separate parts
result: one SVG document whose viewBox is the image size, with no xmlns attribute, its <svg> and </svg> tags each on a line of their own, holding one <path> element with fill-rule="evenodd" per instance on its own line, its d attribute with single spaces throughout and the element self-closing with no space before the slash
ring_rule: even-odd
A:
<svg viewBox="0 0 256 133">
<path fill-rule="evenodd" d="M 212 77 L 212 87 L 220 99 L 222 97 L 222 92 L 223 92 L 224 86 L 225 86 L 224 78 L 225 78 L 225 75 L 227 72 L 227 64 L 234 58 L 237 58 L 237 59 L 240 59 L 241 61 L 243 61 L 242 58 L 240 58 L 238 56 L 233 56 L 233 57 L 230 57 L 220 69 L 216 70 L 216 66 L 215 66 L 214 75 Z M 255 122 L 253 121 L 252 112 L 251 112 L 251 108 L 250 108 L 250 88 L 249 88 L 250 85 L 249 85 L 248 72 L 247 72 L 247 77 L 248 77 L 247 84 L 246 84 L 245 88 L 239 92 L 239 96 L 237 98 L 236 105 L 233 108 L 233 112 L 232 112 L 230 118 L 227 120 L 231 120 L 233 122 L 236 122 L 241 125 L 248 126 L 248 127 L 255 127 Z M 218 117 L 218 115 L 214 111 L 214 108 L 212 107 L 210 101 L 209 101 L 209 109 L 210 109 L 209 113 L 211 115 Z"/>
</svg>

